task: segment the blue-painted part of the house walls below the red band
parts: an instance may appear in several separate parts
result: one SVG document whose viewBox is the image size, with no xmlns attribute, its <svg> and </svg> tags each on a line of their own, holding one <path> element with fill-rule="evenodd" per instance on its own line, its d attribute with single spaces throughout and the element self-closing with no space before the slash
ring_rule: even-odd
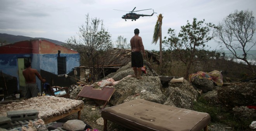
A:
<svg viewBox="0 0 256 131">
<path fill-rule="evenodd" d="M 40 70 L 44 70 L 52 74 L 58 74 L 57 54 L 0 54 L 0 70 L 5 74 L 17 77 L 17 83 L 19 83 L 17 59 L 24 57 L 31 57 L 31 67 L 39 73 Z M 73 71 L 74 67 L 80 66 L 80 54 L 61 54 L 61 57 L 66 57 L 66 74 Z M 36 84 L 38 85 L 38 91 L 40 91 L 41 82 L 37 77 Z M 19 90 L 19 84 L 17 89 Z"/>
</svg>

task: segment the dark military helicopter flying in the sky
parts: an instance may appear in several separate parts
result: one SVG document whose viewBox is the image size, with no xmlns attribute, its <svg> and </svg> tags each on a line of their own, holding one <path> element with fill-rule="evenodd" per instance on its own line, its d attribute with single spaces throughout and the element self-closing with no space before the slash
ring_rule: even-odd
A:
<svg viewBox="0 0 256 131">
<path fill-rule="evenodd" d="M 133 13 L 133 12 L 142 11 L 142 10 L 134 11 L 135 8 L 136 8 L 136 7 L 134 7 L 133 10 L 130 11 L 131 13 L 126 13 L 126 15 L 123 15 L 122 18 L 125 19 L 125 21 L 126 21 L 126 19 L 131 19 L 131 21 L 133 21 L 133 20 L 136 21 L 136 20 L 137 20 L 138 18 L 140 18 L 140 17 L 152 16 L 152 15 L 154 15 L 154 13 L 155 13 L 154 10 L 153 10 L 153 13 L 152 13 L 151 15 L 143 15 L 143 14 Z M 113 9 L 113 10 L 115 10 L 115 9 Z M 150 8 L 150 9 L 145 9 L 145 10 L 152 10 L 152 9 Z M 124 10 L 119 10 L 119 11 L 124 11 Z M 128 11 L 125 11 L 125 12 L 128 12 Z"/>
</svg>

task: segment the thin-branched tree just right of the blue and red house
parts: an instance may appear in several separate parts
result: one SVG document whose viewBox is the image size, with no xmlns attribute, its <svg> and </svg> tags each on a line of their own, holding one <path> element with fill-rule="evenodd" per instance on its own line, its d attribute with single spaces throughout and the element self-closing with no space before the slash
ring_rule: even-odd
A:
<svg viewBox="0 0 256 131">
<path fill-rule="evenodd" d="M 89 18 L 89 14 L 85 15 L 85 25 L 79 27 L 77 32 L 78 39 L 75 36 L 66 40 L 65 47 L 76 50 L 81 55 L 81 64 L 92 66 L 91 72 L 93 78 L 95 73 L 99 74 L 99 69 L 95 66 L 104 63 L 99 60 L 101 52 L 113 47 L 111 34 L 104 28 L 103 20 L 99 18 Z"/>
</svg>

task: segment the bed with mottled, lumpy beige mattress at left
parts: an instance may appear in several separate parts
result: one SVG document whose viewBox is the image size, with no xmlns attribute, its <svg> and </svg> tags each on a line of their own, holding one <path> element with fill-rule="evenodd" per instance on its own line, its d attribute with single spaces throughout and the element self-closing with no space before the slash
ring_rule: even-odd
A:
<svg viewBox="0 0 256 131">
<path fill-rule="evenodd" d="M 66 116 L 78 113 L 80 119 L 83 101 L 54 96 L 38 96 L 20 102 L 1 105 L 0 116 L 7 116 L 7 111 L 32 110 L 39 112 L 38 119 L 45 124 L 52 123 Z"/>
</svg>

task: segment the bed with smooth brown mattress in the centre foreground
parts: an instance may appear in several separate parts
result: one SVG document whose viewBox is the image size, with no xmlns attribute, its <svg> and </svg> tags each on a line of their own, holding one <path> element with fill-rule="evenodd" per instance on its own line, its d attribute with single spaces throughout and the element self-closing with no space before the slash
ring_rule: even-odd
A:
<svg viewBox="0 0 256 131">
<path fill-rule="evenodd" d="M 135 131 L 207 131 L 211 117 L 188 109 L 163 105 L 143 99 L 102 110 L 104 131 L 107 120 Z"/>
</svg>

